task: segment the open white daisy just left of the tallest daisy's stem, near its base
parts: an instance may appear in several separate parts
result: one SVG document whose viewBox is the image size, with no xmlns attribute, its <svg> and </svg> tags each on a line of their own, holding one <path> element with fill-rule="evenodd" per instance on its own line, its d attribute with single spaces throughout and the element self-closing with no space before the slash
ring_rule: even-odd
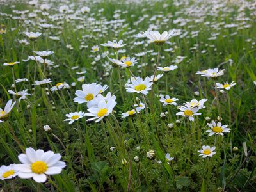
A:
<svg viewBox="0 0 256 192">
<path fill-rule="evenodd" d="M 125 88 L 128 93 L 142 93 L 144 95 L 148 94 L 148 91 L 152 90 L 152 82 L 150 82 L 150 78 L 146 77 L 143 80 L 141 77 L 137 79 L 131 78 L 131 83 L 126 83 Z"/>
</svg>

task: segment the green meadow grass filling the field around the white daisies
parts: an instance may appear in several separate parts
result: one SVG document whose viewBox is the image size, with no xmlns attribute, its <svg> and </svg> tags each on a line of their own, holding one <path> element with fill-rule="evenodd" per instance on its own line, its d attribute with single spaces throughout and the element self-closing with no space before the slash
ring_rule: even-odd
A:
<svg viewBox="0 0 256 192">
<path fill-rule="evenodd" d="M 50 3 L 48 16 L 38 12 L 37 17 L 28 18 L 27 13 L 24 20 L 12 18 L 10 15 L 19 15 L 12 10 L 29 10 L 29 13 L 32 13 L 39 10 L 40 6 L 33 7 L 25 3 L 15 3 L 12 8 L 10 3 L 0 6 L 0 13 L 10 16 L 1 14 L 0 17 L 0 25 L 6 26 L 6 33 L 0 34 L 0 64 L 20 61 L 13 67 L 15 79 L 28 78 L 29 81 L 17 83 L 17 91 L 28 89 L 28 93 L 31 93 L 28 99 L 21 102 L 18 102 L 17 97 L 8 94 L 8 90 L 14 91 L 11 87 L 12 67 L 1 66 L 0 107 L 3 109 L 10 99 L 17 101 L 8 121 L 0 123 L 1 164 L 7 166 L 19 163 L 17 156 L 28 147 L 60 153 L 61 161 L 67 164 L 60 175 L 51 176 L 44 184 L 38 185 L 33 179 L 15 177 L 0 181 L 0 189 L 11 191 L 14 185 L 16 191 L 255 191 L 255 9 L 242 8 L 240 12 L 250 19 L 246 21 L 250 26 L 238 29 L 246 25 L 242 24 L 243 21 L 236 20 L 237 15 L 241 14 L 238 11 L 239 4 L 221 3 L 225 8 L 219 8 L 214 14 L 211 12 L 212 7 L 220 2 L 188 1 L 188 4 L 177 6 L 171 1 L 141 1 L 136 5 L 125 4 L 124 1 L 72 1 L 68 5 L 74 5 L 72 10 L 76 11 L 84 4 L 89 6 L 91 11 L 79 15 L 82 18 L 77 20 L 67 19 L 72 13 L 67 13 L 66 19 L 54 20 L 49 17 L 59 14 L 58 8 L 62 4 L 57 1 Z M 163 4 L 166 4 L 164 8 Z M 100 9 L 103 9 L 102 12 L 99 12 Z M 202 15 L 196 15 L 196 11 Z M 119 26 L 109 22 L 116 20 L 116 13 L 120 14 L 117 21 Z M 141 20 L 143 15 L 148 17 Z M 90 17 L 95 21 L 90 22 Z M 56 28 L 40 28 L 40 19 Z M 120 22 L 122 19 L 124 20 Z M 181 19 L 186 20 L 186 24 L 175 22 Z M 203 20 L 198 21 L 200 19 Z M 138 20 L 141 22 L 136 24 Z M 58 22 L 63 24 L 58 25 Z M 225 28 L 225 24 L 233 23 L 239 27 Z M 148 44 L 146 38 L 134 37 L 147 31 L 150 25 L 156 25 L 156 30 L 160 33 L 180 29 L 181 35 L 172 37 L 171 45 L 166 43 L 161 46 L 161 67 L 173 64 L 179 68 L 164 74 L 154 85 L 156 95 L 153 102 L 152 91 L 145 96 L 148 113 L 143 110 L 132 118 L 121 118 L 122 113 L 133 109 L 136 97 L 141 102 L 144 101 L 142 94 L 125 91 L 124 84 L 131 74 L 126 68 L 120 67 L 113 70 L 111 79 L 112 93 L 116 95 L 117 102 L 112 115 L 98 123 L 86 122 L 88 117 L 73 124 L 64 122 L 67 113 L 87 112 L 86 104 L 73 101 L 76 90 L 81 90 L 82 84 L 111 84 L 111 70 L 103 66 L 105 61 L 109 61 L 108 58 L 101 57 L 99 61 L 95 61 L 95 57 L 108 51 L 108 56 L 115 58 L 115 49 L 108 49 L 100 44 L 108 40 L 124 40 L 127 44 L 123 47 L 126 52 L 119 53 L 119 59 L 122 56 L 133 57 L 140 52 L 146 52 L 145 56 L 135 56 L 138 64 L 130 69 L 135 76 L 143 79 L 153 74 L 157 61 L 157 45 Z M 93 29 L 100 30 L 97 32 Z M 26 39 L 25 31 L 42 33 L 34 42 L 35 49 L 31 41 L 29 45 L 21 45 L 18 42 L 20 39 Z M 195 31 L 199 31 L 198 35 L 192 36 Z M 180 37 L 187 32 L 187 36 Z M 213 33 L 219 35 L 216 39 L 209 40 Z M 49 36 L 58 36 L 60 40 L 51 40 Z M 134 45 L 134 42 L 142 40 L 143 44 Z M 74 49 L 68 49 L 68 44 Z M 88 47 L 81 49 L 81 45 Z M 99 52 L 91 52 L 93 45 L 100 46 Z M 170 47 L 173 48 L 172 52 L 164 51 Z M 44 75 L 53 81 L 52 84 L 47 84 L 48 90 L 32 85 L 35 80 L 42 79 L 40 70 L 44 70 L 43 66 L 39 70 L 35 61 L 22 61 L 32 56 L 33 50 L 54 51 L 47 59 L 53 61 L 54 65 L 60 65 L 45 69 Z M 152 55 L 148 52 L 150 50 L 156 54 Z M 174 64 L 172 61 L 177 56 L 186 58 L 181 63 Z M 230 59 L 232 63 L 228 61 Z M 72 70 L 75 66 L 79 68 Z M 205 118 L 217 120 L 218 116 L 214 99 L 214 80 L 195 74 L 198 70 L 215 67 L 225 69 L 225 75 L 218 77 L 218 83 L 237 83 L 231 90 L 219 94 L 222 123 L 228 125 L 231 132 L 223 137 L 218 136 L 217 139 L 215 136 L 209 137 L 205 132 L 209 129 Z M 82 70 L 86 70 L 83 83 L 77 81 L 77 78 L 83 75 L 76 74 Z M 176 116 L 179 109 L 175 106 L 166 107 L 159 102 L 159 93 L 166 94 L 166 76 L 168 95 L 179 99 L 178 106 L 191 99 L 208 99 L 205 108 L 199 111 L 202 115 L 195 116 L 194 122 Z M 76 86 L 52 93 L 50 88 L 61 82 L 70 85 L 75 82 Z M 108 92 L 109 88 L 103 95 Z M 196 96 L 194 92 L 199 92 L 200 95 Z M 161 118 L 160 114 L 166 111 L 166 118 Z M 176 120 L 180 120 L 180 123 L 176 123 Z M 167 126 L 170 123 L 173 123 L 173 128 Z M 50 132 L 44 131 L 43 126 L 46 124 L 51 127 Z M 198 156 L 202 145 L 216 145 L 216 154 L 212 158 L 202 159 Z M 248 156 L 244 152 L 244 145 L 250 152 Z M 140 150 L 136 149 L 138 146 Z M 111 147 L 115 147 L 115 150 L 111 151 Z M 234 147 L 238 147 L 238 150 L 234 151 Z M 154 150 L 156 159 L 147 159 L 146 154 L 150 150 Z M 170 164 L 166 162 L 166 153 L 174 157 Z M 133 160 L 135 156 L 140 158 L 138 163 Z M 122 163 L 124 159 L 127 161 L 125 164 Z M 162 163 L 159 163 L 159 160 Z"/>
</svg>

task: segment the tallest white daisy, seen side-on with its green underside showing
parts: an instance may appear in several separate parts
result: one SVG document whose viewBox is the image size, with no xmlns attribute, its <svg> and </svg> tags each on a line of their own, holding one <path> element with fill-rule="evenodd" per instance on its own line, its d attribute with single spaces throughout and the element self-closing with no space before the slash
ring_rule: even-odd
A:
<svg viewBox="0 0 256 192">
<path fill-rule="evenodd" d="M 143 35 L 152 40 L 155 44 L 163 45 L 166 40 L 177 35 L 177 33 L 174 30 L 170 31 L 169 33 L 164 31 L 162 34 L 160 34 L 158 31 L 146 31 L 143 33 Z"/>
</svg>

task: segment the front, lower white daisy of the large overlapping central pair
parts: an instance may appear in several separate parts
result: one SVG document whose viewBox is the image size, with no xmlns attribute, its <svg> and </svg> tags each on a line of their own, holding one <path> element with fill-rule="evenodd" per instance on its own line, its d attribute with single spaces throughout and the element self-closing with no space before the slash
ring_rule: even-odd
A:
<svg viewBox="0 0 256 192">
<path fill-rule="evenodd" d="M 108 116 L 109 113 L 112 113 L 113 108 L 116 105 L 116 101 L 114 99 L 109 100 L 106 103 L 105 100 L 100 100 L 97 107 L 92 107 L 87 109 L 89 113 L 85 113 L 85 116 L 93 116 L 93 118 L 89 118 L 87 121 L 95 120 L 95 122 L 99 122 L 105 116 Z"/>
</svg>

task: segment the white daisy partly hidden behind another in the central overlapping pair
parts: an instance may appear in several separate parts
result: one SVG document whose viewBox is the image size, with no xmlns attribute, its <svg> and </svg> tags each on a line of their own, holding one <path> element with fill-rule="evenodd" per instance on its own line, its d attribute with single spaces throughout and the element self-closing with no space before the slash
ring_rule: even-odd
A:
<svg viewBox="0 0 256 192">
<path fill-rule="evenodd" d="M 92 83 L 83 84 L 82 89 L 76 90 L 75 93 L 77 97 L 74 98 L 74 102 L 78 102 L 79 104 L 93 100 L 100 93 L 102 87 L 99 84 Z"/>
</svg>

